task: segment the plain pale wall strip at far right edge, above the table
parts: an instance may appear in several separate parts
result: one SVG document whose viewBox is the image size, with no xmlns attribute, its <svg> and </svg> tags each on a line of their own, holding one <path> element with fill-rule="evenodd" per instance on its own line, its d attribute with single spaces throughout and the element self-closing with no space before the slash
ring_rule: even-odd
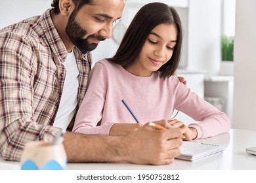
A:
<svg viewBox="0 0 256 183">
<path fill-rule="evenodd" d="M 256 1 L 236 0 L 234 128 L 256 131 Z"/>
</svg>

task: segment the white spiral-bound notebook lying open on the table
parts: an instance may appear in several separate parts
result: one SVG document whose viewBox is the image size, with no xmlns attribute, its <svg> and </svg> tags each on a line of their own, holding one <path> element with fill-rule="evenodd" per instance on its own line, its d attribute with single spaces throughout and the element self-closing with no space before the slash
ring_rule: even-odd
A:
<svg viewBox="0 0 256 183">
<path fill-rule="evenodd" d="M 219 152 L 223 152 L 224 147 L 214 144 L 203 144 L 196 142 L 183 142 L 181 149 L 181 155 L 176 159 L 184 159 L 187 161 L 194 161 L 196 159 L 211 156 Z"/>
</svg>

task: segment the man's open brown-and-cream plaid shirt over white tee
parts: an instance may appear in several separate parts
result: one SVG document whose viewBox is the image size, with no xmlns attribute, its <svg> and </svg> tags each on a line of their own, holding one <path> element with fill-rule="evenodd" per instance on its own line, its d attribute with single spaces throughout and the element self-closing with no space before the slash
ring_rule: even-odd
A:
<svg viewBox="0 0 256 183">
<path fill-rule="evenodd" d="M 91 54 L 74 48 L 79 69 L 78 105 L 91 70 Z M 19 161 L 29 141 L 53 141 L 67 56 L 47 10 L 0 30 L 0 157 Z M 68 130 L 74 125 L 74 119 Z"/>
</svg>

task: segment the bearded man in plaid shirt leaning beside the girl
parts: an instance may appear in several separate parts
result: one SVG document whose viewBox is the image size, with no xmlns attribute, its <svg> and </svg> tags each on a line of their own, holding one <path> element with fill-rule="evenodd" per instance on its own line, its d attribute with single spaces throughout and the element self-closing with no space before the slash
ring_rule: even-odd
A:
<svg viewBox="0 0 256 183">
<path fill-rule="evenodd" d="M 70 131 L 91 70 L 91 54 L 112 36 L 123 0 L 54 0 L 53 9 L 0 31 L 0 157 L 19 161 L 29 141 Z M 161 165 L 179 156 L 181 129 L 148 124 L 127 136 L 66 132 L 69 162 Z"/>
</svg>

